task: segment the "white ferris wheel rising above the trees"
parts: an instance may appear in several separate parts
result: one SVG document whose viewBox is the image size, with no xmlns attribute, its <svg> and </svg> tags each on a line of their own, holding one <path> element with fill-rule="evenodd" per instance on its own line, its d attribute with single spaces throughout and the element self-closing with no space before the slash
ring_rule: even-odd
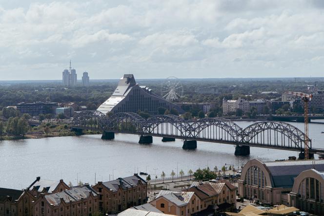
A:
<svg viewBox="0 0 324 216">
<path fill-rule="evenodd" d="M 161 96 L 167 101 L 173 101 L 183 96 L 183 86 L 177 77 L 168 77 L 162 84 Z"/>
</svg>

